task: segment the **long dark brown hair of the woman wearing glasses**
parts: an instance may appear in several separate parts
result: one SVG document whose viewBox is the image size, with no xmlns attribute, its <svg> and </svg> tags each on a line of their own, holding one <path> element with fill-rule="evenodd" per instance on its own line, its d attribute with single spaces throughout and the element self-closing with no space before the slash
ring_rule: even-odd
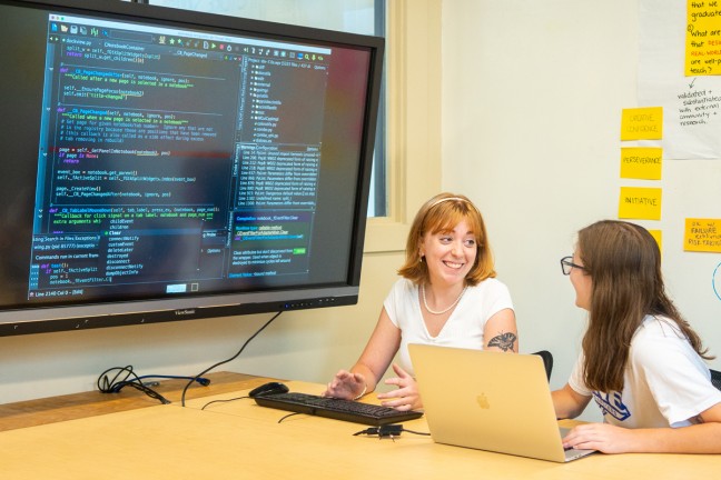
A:
<svg viewBox="0 0 721 480">
<path fill-rule="evenodd" d="M 587 388 L 623 389 L 631 339 L 648 314 L 673 320 L 693 349 L 711 358 L 665 293 L 661 252 L 648 230 L 624 221 L 600 221 L 579 232 L 577 253 L 592 279 L 589 328 L 582 343 Z"/>
</svg>

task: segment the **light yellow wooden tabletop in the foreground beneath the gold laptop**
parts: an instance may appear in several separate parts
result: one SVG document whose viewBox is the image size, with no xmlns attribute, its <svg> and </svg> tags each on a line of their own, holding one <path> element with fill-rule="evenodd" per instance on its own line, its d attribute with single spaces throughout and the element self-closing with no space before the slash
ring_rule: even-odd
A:
<svg viewBox="0 0 721 480">
<path fill-rule="evenodd" d="M 295 391 L 319 384 L 287 382 Z M 258 407 L 246 390 L 0 433 L 8 479 L 687 479 L 715 478 L 721 456 L 595 454 L 567 464 L 434 443 L 354 437 L 365 426 Z M 427 431 L 425 419 L 404 423 Z"/>
</svg>

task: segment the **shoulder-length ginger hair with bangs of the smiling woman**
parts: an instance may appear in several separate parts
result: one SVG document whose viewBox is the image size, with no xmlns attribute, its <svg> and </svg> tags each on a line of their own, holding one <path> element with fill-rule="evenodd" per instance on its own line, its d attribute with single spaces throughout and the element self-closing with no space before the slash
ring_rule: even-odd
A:
<svg viewBox="0 0 721 480">
<path fill-rule="evenodd" d="M 398 274 L 416 284 L 426 283 L 428 267 L 422 261 L 418 251 L 424 236 L 428 232 L 451 231 L 463 220 L 468 223 L 477 246 L 475 262 L 465 278 L 465 284 L 475 286 L 486 278 L 495 277 L 493 254 L 483 217 L 471 200 L 455 193 L 438 193 L 421 207 L 408 232 L 406 259 Z"/>
</svg>

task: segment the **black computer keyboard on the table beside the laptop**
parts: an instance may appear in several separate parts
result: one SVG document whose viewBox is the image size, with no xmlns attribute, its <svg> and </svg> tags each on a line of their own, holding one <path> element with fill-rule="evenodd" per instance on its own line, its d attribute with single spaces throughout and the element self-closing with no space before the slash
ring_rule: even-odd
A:
<svg viewBox="0 0 721 480">
<path fill-rule="evenodd" d="M 398 423 L 423 416 L 419 411 L 398 411 L 391 407 L 296 392 L 258 396 L 254 400 L 260 407 L 369 426 Z"/>
</svg>

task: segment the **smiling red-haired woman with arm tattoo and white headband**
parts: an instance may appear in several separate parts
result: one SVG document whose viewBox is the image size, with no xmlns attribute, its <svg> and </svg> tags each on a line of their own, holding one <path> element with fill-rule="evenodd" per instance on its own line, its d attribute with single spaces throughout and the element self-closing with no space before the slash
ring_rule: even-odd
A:
<svg viewBox="0 0 721 480">
<path fill-rule="evenodd" d="M 397 377 L 385 382 L 397 389 L 378 398 L 384 406 L 415 410 L 422 402 L 409 343 L 517 352 L 511 296 L 494 278 L 483 218 L 467 198 L 441 193 L 421 208 L 398 274 L 360 358 L 335 376 L 325 396 L 358 399 L 373 391 L 398 353 Z"/>
</svg>

